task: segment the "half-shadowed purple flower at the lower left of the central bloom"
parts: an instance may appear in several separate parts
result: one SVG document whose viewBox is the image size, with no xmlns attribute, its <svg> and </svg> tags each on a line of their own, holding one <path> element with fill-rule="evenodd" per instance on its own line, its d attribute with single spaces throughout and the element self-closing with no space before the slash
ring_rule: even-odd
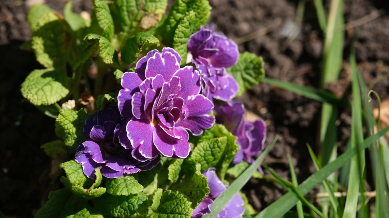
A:
<svg viewBox="0 0 389 218">
<path fill-rule="evenodd" d="M 86 176 L 96 178 L 95 168 L 100 168 L 103 176 L 117 178 L 124 173 L 150 170 L 159 163 L 160 156 L 143 162 L 134 159 L 131 150 L 119 142 L 119 135 L 125 133 L 123 126 L 127 122 L 117 107 L 103 109 L 86 119 L 84 135 L 88 139 L 78 146 L 75 156 Z"/>
</svg>

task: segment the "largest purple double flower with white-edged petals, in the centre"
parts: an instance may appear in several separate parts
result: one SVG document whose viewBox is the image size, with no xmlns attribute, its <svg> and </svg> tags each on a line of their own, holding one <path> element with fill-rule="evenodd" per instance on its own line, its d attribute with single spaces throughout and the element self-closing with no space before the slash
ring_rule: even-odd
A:
<svg viewBox="0 0 389 218">
<path fill-rule="evenodd" d="M 136 73 L 124 73 L 117 97 L 126 125 L 133 157 L 152 159 L 159 153 L 185 158 L 193 135 L 203 133 L 215 119 L 212 102 L 200 95 L 200 74 L 193 67 L 180 68 L 180 55 L 172 48 L 152 50 L 141 58 Z M 121 137 L 120 137 L 121 138 Z"/>
</svg>

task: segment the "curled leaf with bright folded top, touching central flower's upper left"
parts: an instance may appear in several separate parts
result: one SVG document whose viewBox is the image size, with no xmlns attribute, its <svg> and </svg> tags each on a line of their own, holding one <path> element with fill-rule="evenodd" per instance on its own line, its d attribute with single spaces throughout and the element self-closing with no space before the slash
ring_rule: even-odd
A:
<svg viewBox="0 0 389 218">
<path fill-rule="evenodd" d="M 132 64 L 138 60 L 138 55 L 142 51 L 142 47 L 149 45 L 159 46 L 159 40 L 155 36 L 148 33 L 137 33 L 126 41 L 121 50 L 121 59 L 124 64 Z"/>
</svg>

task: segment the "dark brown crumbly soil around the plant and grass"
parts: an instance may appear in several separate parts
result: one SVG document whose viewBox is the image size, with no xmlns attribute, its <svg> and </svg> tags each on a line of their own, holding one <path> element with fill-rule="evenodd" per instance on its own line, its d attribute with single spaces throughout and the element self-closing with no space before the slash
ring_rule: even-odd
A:
<svg viewBox="0 0 389 218">
<path fill-rule="evenodd" d="M 27 5 L 31 2 L 0 1 L 0 212 L 16 217 L 33 217 L 45 203 L 47 193 L 58 189 L 59 185 L 51 182 L 48 176 L 50 158 L 39 148 L 55 139 L 54 119 L 23 100 L 19 91 L 28 73 L 42 67 L 31 51 L 19 49 L 23 40 L 31 38 L 26 20 Z M 325 2 L 328 8 L 329 1 Z M 345 0 L 345 21 L 355 21 L 377 9 L 388 10 L 385 2 Z M 46 3 L 61 12 L 65 0 L 46 0 Z M 268 28 L 265 35 L 239 45 L 240 52 L 249 51 L 264 58 L 266 76 L 299 85 L 319 86 L 323 34 L 312 1 L 307 1 L 300 32 L 289 44 L 287 37 L 295 20 L 297 0 L 210 0 L 210 3 L 213 7 L 210 23 L 216 24 L 216 29 L 230 38 L 237 39 Z M 91 2 L 74 0 L 73 6 L 76 12 L 90 10 Z M 389 73 L 389 16 L 386 13 L 346 32 L 345 63 L 349 57 L 350 37 L 353 31 L 359 31 L 357 62 L 368 84 L 373 78 Z M 339 83 L 347 87 L 348 67 L 347 64 L 344 66 L 343 83 Z M 383 79 L 374 85 L 374 90 L 384 99 L 388 87 L 389 79 Z M 254 86 L 237 100 L 265 119 L 268 126 L 266 144 L 270 144 L 275 135 L 280 136 L 265 160 L 270 167 L 290 180 L 286 159 L 290 154 L 299 182 L 315 172 L 306 144 L 320 152 L 321 103 L 265 83 Z M 340 151 L 350 132 L 349 111 L 341 112 Z M 252 179 L 244 192 L 254 208 L 260 211 L 282 196 L 285 190 L 266 180 Z"/>
</svg>

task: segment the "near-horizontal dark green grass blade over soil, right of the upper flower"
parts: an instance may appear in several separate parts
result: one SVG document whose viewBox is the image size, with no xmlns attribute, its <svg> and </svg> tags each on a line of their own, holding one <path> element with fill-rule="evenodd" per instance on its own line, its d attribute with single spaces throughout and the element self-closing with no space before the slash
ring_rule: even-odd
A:
<svg viewBox="0 0 389 218">
<path fill-rule="evenodd" d="M 268 77 L 263 78 L 261 81 L 273 85 L 275 87 L 285 89 L 289 92 L 293 92 L 298 95 L 307 97 L 308 99 L 317 100 L 319 102 L 327 102 L 329 104 L 336 104 L 343 107 L 349 107 L 349 103 L 347 101 L 342 100 L 338 98 L 336 95 L 324 90 L 320 90 L 312 87 L 300 86 L 300 85 L 296 85 L 284 81 L 274 80 Z"/>
</svg>

